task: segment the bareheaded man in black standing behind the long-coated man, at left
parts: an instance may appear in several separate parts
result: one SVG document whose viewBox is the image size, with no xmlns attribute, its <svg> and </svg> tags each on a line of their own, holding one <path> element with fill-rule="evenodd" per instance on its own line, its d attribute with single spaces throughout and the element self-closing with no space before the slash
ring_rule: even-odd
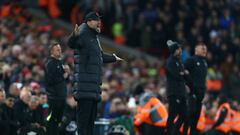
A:
<svg viewBox="0 0 240 135">
<path fill-rule="evenodd" d="M 61 46 L 54 43 L 49 47 L 50 57 L 45 62 L 45 83 L 48 94 L 47 134 L 58 135 L 67 95 L 66 78 L 70 73 L 68 65 L 61 60 Z"/>
</svg>

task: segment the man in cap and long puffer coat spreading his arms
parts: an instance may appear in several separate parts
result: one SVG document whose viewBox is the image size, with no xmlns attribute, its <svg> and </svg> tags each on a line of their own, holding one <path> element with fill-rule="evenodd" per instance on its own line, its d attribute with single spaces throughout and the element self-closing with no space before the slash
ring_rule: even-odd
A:
<svg viewBox="0 0 240 135">
<path fill-rule="evenodd" d="M 97 103 L 101 100 L 102 65 L 122 60 L 115 54 L 104 53 L 97 34 L 101 32 L 98 13 L 90 12 L 85 23 L 76 24 L 68 45 L 74 49 L 74 89 L 77 100 L 77 124 L 79 135 L 92 135 L 97 115 Z"/>
</svg>

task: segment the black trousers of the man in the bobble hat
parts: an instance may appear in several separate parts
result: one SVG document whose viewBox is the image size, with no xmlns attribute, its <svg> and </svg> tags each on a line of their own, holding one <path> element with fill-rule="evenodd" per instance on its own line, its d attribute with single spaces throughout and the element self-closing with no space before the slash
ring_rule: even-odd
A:
<svg viewBox="0 0 240 135">
<path fill-rule="evenodd" d="M 167 120 L 167 135 L 179 135 L 180 127 L 187 120 L 187 104 L 185 97 L 168 96 L 168 120 Z M 177 121 L 175 122 L 175 119 Z M 187 131 L 184 124 L 184 131 Z M 184 133 L 186 134 L 186 133 Z"/>
</svg>

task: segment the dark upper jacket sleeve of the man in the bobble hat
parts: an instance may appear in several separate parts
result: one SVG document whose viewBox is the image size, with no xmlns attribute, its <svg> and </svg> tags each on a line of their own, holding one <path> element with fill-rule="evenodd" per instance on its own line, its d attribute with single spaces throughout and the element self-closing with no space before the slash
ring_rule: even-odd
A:
<svg viewBox="0 0 240 135">
<path fill-rule="evenodd" d="M 170 60 L 167 62 L 167 73 L 174 79 L 178 80 L 178 81 L 181 81 L 182 80 L 182 75 L 180 75 L 180 73 L 176 70 L 177 67 L 175 65 L 175 63 Z"/>
</svg>

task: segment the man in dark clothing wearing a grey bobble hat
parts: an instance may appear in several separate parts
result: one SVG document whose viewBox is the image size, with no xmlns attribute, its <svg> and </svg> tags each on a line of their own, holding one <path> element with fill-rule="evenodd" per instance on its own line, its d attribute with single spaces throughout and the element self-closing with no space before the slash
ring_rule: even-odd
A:
<svg viewBox="0 0 240 135">
<path fill-rule="evenodd" d="M 167 41 L 171 56 L 167 60 L 167 98 L 168 98 L 168 120 L 167 134 L 177 135 L 181 125 L 186 121 L 187 104 L 186 104 L 186 86 L 185 76 L 187 72 L 184 70 L 180 60 L 181 46 L 172 40 Z M 177 118 L 177 121 L 174 120 Z M 184 124 L 184 131 L 186 126 Z"/>
</svg>

